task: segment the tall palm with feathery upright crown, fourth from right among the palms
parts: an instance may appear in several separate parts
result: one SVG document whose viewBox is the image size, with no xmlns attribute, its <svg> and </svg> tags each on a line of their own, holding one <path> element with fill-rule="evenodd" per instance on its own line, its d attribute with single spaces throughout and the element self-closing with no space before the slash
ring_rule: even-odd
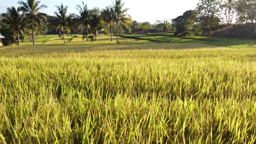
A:
<svg viewBox="0 0 256 144">
<path fill-rule="evenodd" d="M 91 11 L 88 9 L 87 4 L 82 2 L 82 6 L 76 5 L 76 10 L 79 12 L 78 18 L 82 21 L 83 26 L 86 28 L 86 41 L 88 41 L 88 30 L 90 29 Z"/>
</svg>

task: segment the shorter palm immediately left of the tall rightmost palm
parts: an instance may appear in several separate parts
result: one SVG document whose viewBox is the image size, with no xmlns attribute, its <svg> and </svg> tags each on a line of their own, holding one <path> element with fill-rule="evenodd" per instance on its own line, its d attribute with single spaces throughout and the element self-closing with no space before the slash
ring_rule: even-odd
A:
<svg viewBox="0 0 256 144">
<path fill-rule="evenodd" d="M 112 42 L 113 41 L 112 25 L 114 23 L 115 17 L 110 6 L 106 6 L 106 8 L 102 10 L 102 19 L 104 20 L 104 22 L 106 22 L 106 24 L 110 29 L 111 42 Z"/>
</svg>

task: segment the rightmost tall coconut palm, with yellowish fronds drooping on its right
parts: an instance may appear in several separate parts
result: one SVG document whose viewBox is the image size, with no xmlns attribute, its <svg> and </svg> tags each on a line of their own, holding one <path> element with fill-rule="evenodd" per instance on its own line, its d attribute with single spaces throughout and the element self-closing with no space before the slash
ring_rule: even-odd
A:
<svg viewBox="0 0 256 144">
<path fill-rule="evenodd" d="M 126 28 L 130 28 L 130 25 L 128 24 L 128 21 L 131 20 L 130 16 L 127 14 L 127 11 L 129 10 L 128 8 L 124 9 L 124 3 L 122 3 L 122 0 L 116 0 L 115 3 L 113 2 L 112 6 L 112 12 L 114 13 L 115 16 L 115 21 L 116 21 L 116 39 L 118 42 L 118 25 L 119 22 L 126 26 Z"/>
</svg>

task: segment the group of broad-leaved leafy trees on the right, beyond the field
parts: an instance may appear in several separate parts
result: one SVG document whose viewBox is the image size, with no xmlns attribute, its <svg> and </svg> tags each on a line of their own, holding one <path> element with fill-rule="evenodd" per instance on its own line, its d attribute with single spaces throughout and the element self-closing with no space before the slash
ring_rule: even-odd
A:
<svg viewBox="0 0 256 144">
<path fill-rule="evenodd" d="M 256 0 L 199 0 L 195 10 L 172 19 L 176 35 L 211 34 L 232 24 L 254 26 L 256 35 Z"/>
</svg>

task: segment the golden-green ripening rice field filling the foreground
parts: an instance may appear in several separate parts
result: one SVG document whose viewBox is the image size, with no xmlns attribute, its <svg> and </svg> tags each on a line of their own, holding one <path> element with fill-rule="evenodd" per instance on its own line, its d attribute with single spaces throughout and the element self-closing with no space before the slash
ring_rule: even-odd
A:
<svg viewBox="0 0 256 144">
<path fill-rule="evenodd" d="M 98 38 L 0 49 L 0 143 L 256 142 L 255 48 Z"/>
</svg>

